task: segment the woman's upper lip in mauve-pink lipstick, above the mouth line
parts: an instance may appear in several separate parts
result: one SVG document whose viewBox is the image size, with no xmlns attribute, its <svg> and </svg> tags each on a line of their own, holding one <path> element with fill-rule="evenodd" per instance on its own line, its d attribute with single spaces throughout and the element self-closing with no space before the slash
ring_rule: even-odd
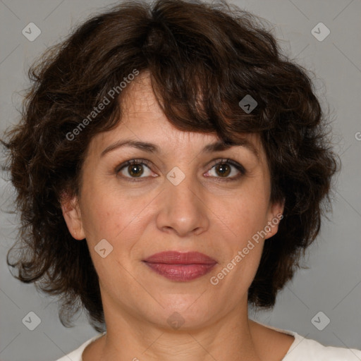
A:
<svg viewBox="0 0 361 361">
<path fill-rule="evenodd" d="M 215 264 L 216 260 L 200 252 L 178 252 L 167 251 L 159 252 L 144 259 L 149 263 L 166 264 Z"/>
</svg>

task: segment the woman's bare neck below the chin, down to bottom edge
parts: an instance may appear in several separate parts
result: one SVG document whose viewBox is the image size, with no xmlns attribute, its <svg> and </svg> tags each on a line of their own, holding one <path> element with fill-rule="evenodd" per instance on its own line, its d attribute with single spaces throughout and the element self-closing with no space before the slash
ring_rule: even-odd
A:
<svg viewBox="0 0 361 361">
<path fill-rule="evenodd" d="M 180 329 L 119 312 L 107 302 L 104 315 L 107 331 L 99 346 L 99 358 L 104 361 L 260 361 L 247 302 L 214 322 L 188 327 L 185 322 Z"/>
</svg>

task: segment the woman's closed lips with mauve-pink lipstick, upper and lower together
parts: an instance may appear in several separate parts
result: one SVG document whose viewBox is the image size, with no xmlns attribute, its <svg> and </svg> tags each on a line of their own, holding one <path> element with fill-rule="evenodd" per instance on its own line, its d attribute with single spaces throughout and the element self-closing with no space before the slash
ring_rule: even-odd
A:
<svg viewBox="0 0 361 361">
<path fill-rule="evenodd" d="M 159 252 L 143 262 L 153 271 L 172 281 L 192 281 L 204 276 L 216 265 L 216 260 L 200 252 Z"/>
</svg>

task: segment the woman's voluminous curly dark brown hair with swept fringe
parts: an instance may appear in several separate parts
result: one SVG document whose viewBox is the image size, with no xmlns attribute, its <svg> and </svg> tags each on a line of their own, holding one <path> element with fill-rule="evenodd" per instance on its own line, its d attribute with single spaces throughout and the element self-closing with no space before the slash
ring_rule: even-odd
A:
<svg viewBox="0 0 361 361">
<path fill-rule="evenodd" d="M 179 130 L 216 132 L 224 142 L 237 142 L 241 133 L 261 136 L 271 202 L 285 206 L 278 233 L 264 244 L 248 302 L 273 307 L 331 210 L 339 157 L 306 69 L 281 54 L 262 20 L 224 0 L 118 4 L 33 64 L 21 121 L 2 141 L 21 214 L 8 266 L 18 269 L 20 281 L 59 295 L 64 326 L 85 307 L 94 329 L 104 331 L 97 272 L 87 243 L 69 233 L 60 200 L 64 192 L 78 195 L 90 140 L 120 122 L 119 84 L 135 70 L 149 71 L 161 109 Z M 246 95 L 257 102 L 252 111 L 239 104 Z M 99 110 L 105 98 L 109 104 Z"/>
</svg>

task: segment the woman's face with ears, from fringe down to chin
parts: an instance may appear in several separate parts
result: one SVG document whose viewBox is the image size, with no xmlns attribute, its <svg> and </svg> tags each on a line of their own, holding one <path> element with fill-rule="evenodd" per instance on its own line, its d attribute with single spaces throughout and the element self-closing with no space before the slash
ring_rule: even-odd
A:
<svg viewBox="0 0 361 361">
<path fill-rule="evenodd" d="M 92 139 L 80 196 L 63 204 L 73 237 L 86 238 L 105 314 L 192 329 L 233 310 L 244 312 L 262 235 L 276 233 L 283 211 L 269 202 L 259 137 L 245 134 L 259 159 L 241 145 L 207 152 L 204 147 L 219 138 L 171 126 L 146 75 L 128 87 L 123 120 Z M 152 143 L 157 150 L 120 146 L 126 140 Z M 131 159 L 135 164 L 122 165 Z M 214 166 L 217 161 L 223 165 Z M 173 262 L 167 256 L 152 267 L 145 262 L 166 251 L 200 252 L 214 263 L 189 258 L 183 266 L 161 264 Z"/>
</svg>

